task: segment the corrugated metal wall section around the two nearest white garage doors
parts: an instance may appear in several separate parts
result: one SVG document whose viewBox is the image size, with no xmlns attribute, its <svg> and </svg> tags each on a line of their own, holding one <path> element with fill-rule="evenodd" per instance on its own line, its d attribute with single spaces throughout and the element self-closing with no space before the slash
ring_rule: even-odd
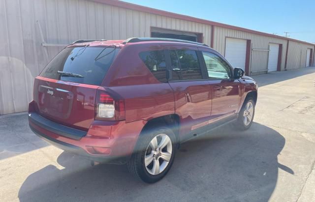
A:
<svg viewBox="0 0 315 202">
<path fill-rule="evenodd" d="M 225 39 L 226 37 L 239 38 L 239 39 L 250 39 L 252 40 L 252 53 L 250 62 L 250 72 L 251 75 L 264 74 L 267 72 L 268 68 L 268 51 L 258 51 L 268 50 L 269 43 L 283 44 L 282 52 L 282 64 L 281 69 L 284 70 L 284 60 L 285 60 L 285 50 L 287 40 L 272 38 L 269 36 L 262 36 L 258 34 L 252 34 L 244 31 L 238 31 L 233 29 L 226 29 L 215 27 L 214 29 L 214 48 L 219 51 L 223 56 L 225 52 Z"/>
</svg>

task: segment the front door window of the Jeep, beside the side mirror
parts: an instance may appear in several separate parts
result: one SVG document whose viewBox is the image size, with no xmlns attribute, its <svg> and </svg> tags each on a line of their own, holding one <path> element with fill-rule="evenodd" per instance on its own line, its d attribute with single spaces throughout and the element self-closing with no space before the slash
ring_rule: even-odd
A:
<svg viewBox="0 0 315 202">
<path fill-rule="evenodd" d="M 210 79 L 230 79 L 231 69 L 229 65 L 215 54 L 202 52 L 205 59 L 208 75 Z"/>
</svg>

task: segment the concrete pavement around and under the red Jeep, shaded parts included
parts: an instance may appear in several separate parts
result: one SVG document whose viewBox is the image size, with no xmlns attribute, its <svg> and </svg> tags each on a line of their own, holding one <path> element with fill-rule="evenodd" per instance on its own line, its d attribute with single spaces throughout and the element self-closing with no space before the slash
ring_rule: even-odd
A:
<svg viewBox="0 0 315 202">
<path fill-rule="evenodd" d="M 164 179 L 97 165 L 50 146 L 27 114 L 0 116 L 0 201 L 315 201 L 315 67 L 254 77 L 250 130 L 182 145 Z"/>
</svg>

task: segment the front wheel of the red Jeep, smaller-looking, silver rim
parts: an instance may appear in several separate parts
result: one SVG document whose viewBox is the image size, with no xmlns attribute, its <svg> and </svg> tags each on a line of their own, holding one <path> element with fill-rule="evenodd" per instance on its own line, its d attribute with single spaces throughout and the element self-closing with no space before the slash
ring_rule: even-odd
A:
<svg viewBox="0 0 315 202">
<path fill-rule="evenodd" d="M 239 113 L 239 117 L 235 123 L 240 130 L 247 130 L 252 125 L 252 120 L 255 114 L 255 102 L 252 98 L 247 98 Z"/>
</svg>

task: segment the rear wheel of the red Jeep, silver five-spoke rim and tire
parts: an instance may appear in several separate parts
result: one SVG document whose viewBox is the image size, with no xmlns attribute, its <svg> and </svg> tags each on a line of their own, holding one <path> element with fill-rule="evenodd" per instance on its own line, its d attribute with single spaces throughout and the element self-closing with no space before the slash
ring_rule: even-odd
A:
<svg viewBox="0 0 315 202">
<path fill-rule="evenodd" d="M 139 136 L 128 169 L 144 182 L 162 179 L 173 164 L 176 137 L 168 128 L 161 127 Z"/>
</svg>

